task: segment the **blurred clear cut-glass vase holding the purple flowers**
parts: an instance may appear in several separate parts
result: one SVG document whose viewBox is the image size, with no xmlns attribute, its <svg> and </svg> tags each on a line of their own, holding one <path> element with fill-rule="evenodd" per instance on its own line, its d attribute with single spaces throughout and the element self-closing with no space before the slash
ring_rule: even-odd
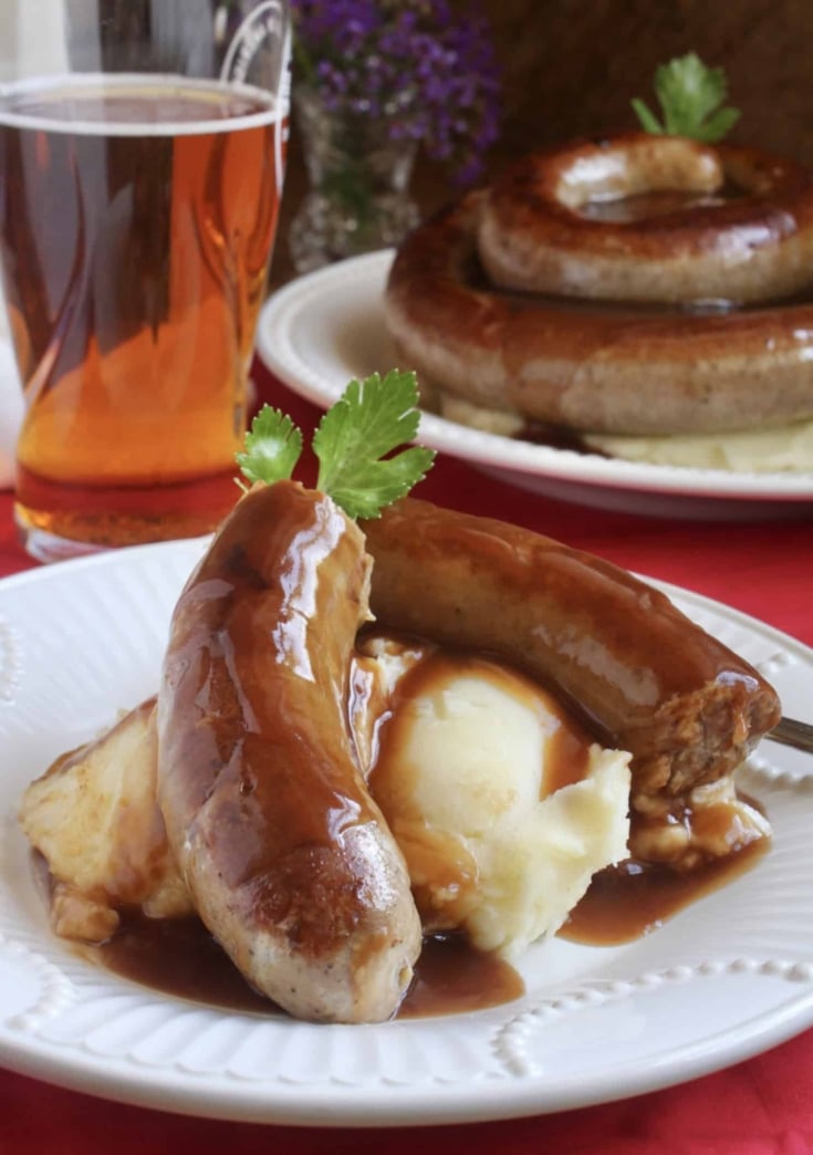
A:
<svg viewBox="0 0 813 1155">
<path fill-rule="evenodd" d="M 289 233 L 297 271 L 398 245 L 419 219 L 409 196 L 418 143 L 408 135 L 408 102 L 373 114 L 327 106 L 303 88 L 292 103 L 309 182 Z"/>
</svg>

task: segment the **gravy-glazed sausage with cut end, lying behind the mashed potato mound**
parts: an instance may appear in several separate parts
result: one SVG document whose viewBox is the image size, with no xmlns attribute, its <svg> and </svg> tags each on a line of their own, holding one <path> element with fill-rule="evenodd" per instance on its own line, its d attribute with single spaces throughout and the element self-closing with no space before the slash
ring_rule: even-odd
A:
<svg viewBox="0 0 813 1155">
<path fill-rule="evenodd" d="M 780 720 L 756 670 L 609 561 L 413 499 L 363 528 L 376 621 L 537 678 L 601 742 L 632 752 L 641 814 L 732 774 Z"/>
</svg>

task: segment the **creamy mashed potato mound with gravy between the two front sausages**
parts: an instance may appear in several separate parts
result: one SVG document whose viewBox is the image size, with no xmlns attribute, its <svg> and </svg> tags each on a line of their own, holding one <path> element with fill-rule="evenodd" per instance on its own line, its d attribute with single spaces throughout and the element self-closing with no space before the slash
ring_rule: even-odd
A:
<svg viewBox="0 0 813 1155">
<path fill-rule="evenodd" d="M 493 663 L 412 664 L 370 787 L 425 927 L 509 960 L 555 932 L 594 873 L 626 857 L 629 757 Z"/>
</svg>

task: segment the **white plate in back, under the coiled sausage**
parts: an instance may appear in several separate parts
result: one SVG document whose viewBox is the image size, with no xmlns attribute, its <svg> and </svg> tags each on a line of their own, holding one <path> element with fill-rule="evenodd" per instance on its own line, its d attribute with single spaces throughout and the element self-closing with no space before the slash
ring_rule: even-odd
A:
<svg viewBox="0 0 813 1155">
<path fill-rule="evenodd" d="M 327 408 L 348 381 L 400 364 L 383 321 L 393 254 L 341 261 L 292 281 L 264 305 L 260 357 L 285 385 Z M 420 441 L 547 497 L 659 516 L 752 519 L 813 508 L 813 474 L 678 469 L 554 449 L 424 413 Z"/>
</svg>

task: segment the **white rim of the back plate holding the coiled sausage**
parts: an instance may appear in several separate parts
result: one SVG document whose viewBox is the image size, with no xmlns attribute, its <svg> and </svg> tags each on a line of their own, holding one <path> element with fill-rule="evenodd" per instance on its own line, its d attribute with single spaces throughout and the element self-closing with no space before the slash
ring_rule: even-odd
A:
<svg viewBox="0 0 813 1155">
<path fill-rule="evenodd" d="M 322 409 L 333 404 L 343 385 L 334 386 L 319 378 L 292 341 L 293 326 L 300 322 L 314 300 L 321 305 L 342 285 L 372 290 L 382 284 L 394 255 L 395 249 L 387 248 L 351 256 L 306 273 L 275 290 L 263 304 L 256 327 L 256 352 L 266 368 Z M 513 440 L 427 412 L 422 413 L 418 438 L 430 448 L 471 463 L 552 483 L 686 499 L 813 502 L 813 471 L 734 472 L 621 461 Z"/>
</svg>

